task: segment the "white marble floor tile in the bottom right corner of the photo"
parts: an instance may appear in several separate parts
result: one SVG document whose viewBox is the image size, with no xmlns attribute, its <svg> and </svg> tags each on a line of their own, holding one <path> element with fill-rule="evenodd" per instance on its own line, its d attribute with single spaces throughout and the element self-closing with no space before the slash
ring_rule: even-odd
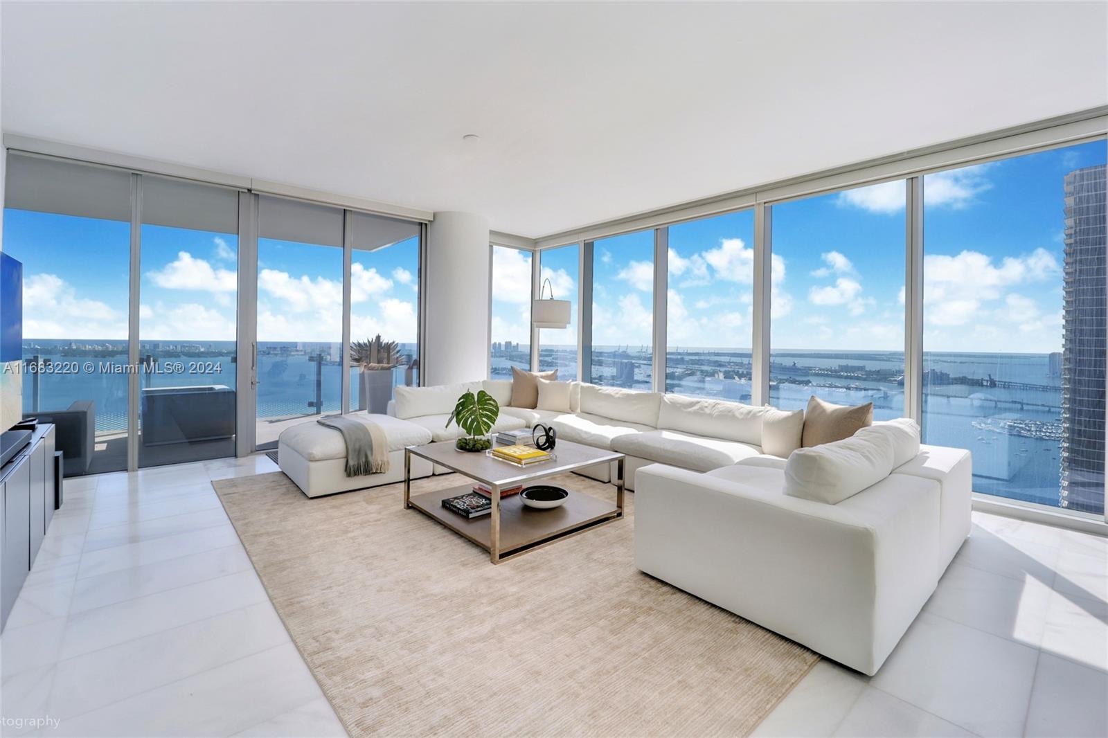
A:
<svg viewBox="0 0 1108 738">
<path fill-rule="evenodd" d="M 1042 654 L 1035 672 L 1026 735 L 1108 736 L 1108 674 Z"/>
</svg>

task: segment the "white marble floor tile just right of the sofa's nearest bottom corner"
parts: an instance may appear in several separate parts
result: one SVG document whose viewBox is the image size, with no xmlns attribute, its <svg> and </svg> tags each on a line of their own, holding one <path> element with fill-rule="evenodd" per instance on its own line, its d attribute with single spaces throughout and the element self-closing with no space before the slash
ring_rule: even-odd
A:
<svg viewBox="0 0 1108 738">
<path fill-rule="evenodd" d="M 870 684 L 982 736 L 1024 729 L 1038 652 L 921 613 Z"/>
</svg>

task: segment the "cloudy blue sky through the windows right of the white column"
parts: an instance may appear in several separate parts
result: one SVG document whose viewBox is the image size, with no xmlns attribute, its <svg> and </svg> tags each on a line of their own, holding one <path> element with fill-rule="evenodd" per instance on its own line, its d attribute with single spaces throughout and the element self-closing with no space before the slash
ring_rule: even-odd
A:
<svg viewBox="0 0 1108 738">
<path fill-rule="evenodd" d="M 925 350 L 1061 349 L 1063 177 L 1105 161 L 1105 143 L 1094 142 L 925 177 Z M 772 208 L 773 349 L 903 350 L 904 187 Z M 749 211 L 670 226 L 670 347 L 749 348 L 752 240 Z M 543 258 L 544 271 L 558 264 Z M 594 341 L 648 345 L 652 232 L 597 240 L 594 259 Z M 506 275 L 524 260 L 494 267 Z M 576 276 L 567 271 L 566 284 Z M 495 339 L 526 342 L 513 305 L 494 299 Z M 575 340 L 548 332 L 544 342 Z"/>
</svg>

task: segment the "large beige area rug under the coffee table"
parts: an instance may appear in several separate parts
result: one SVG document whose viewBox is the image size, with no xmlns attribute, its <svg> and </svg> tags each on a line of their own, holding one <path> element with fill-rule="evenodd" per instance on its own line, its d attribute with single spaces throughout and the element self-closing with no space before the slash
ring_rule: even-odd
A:
<svg viewBox="0 0 1108 738">
<path fill-rule="evenodd" d="M 634 493 L 624 520 L 494 566 L 403 510 L 400 484 L 316 500 L 279 472 L 214 485 L 352 736 L 746 735 L 819 658 L 636 570 Z"/>
</svg>

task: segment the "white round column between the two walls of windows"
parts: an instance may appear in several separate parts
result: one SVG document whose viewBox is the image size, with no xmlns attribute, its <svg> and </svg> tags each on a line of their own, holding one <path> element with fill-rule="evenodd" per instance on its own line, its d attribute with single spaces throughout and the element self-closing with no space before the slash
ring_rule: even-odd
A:
<svg viewBox="0 0 1108 738">
<path fill-rule="evenodd" d="M 424 385 L 489 373 L 489 222 L 435 213 L 428 235 Z"/>
</svg>

